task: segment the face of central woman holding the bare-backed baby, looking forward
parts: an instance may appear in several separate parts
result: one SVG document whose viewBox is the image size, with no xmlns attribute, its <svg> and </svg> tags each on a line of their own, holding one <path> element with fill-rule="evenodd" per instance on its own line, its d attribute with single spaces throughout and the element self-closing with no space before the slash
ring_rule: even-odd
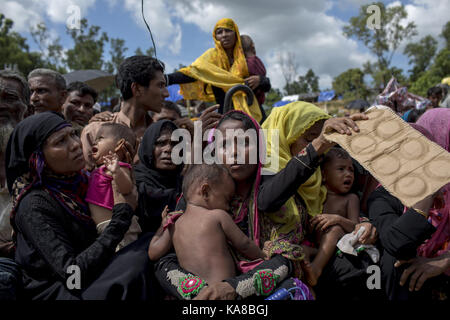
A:
<svg viewBox="0 0 450 320">
<path fill-rule="evenodd" d="M 241 129 L 244 132 L 246 131 L 242 121 L 228 119 L 220 124 L 218 130 L 222 133 L 223 140 L 219 141 L 220 147 L 218 148 L 218 153 L 219 157 L 222 157 L 223 163 L 230 171 L 230 174 L 233 177 L 234 181 L 240 182 L 250 178 L 257 170 L 257 163 L 250 164 L 250 155 L 253 153 L 257 153 L 258 146 L 257 143 L 251 143 L 247 138 L 245 140 L 244 146 L 238 145 L 238 138 L 235 135 L 227 138 L 227 130 L 237 129 Z M 231 139 L 234 139 L 234 148 L 231 147 L 233 143 Z M 241 155 L 241 157 L 242 155 L 244 156 L 245 163 L 238 164 L 238 155 Z"/>
</svg>

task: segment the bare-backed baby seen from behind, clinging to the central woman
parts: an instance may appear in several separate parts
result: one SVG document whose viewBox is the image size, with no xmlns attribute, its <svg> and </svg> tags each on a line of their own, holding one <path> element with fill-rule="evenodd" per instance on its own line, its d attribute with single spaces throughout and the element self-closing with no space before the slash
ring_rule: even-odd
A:
<svg viewBox="0 0 450 320">
<path fill-rule="evenodd" d="M 181 267 L 212 284 L 235 276 L 228 245 L 251 260 L 265 258 L 227 213 L 234 192 L 234 181 L 224 166 L 192 165 L 183 180 L 186 210 L 175 223 L 175 219 L 166 223 L 167 228 L 163 228 L 167 219 L 163 220 L 150 243 L 150 259 L 159 259 L 173 243 Z"/>
</svg>

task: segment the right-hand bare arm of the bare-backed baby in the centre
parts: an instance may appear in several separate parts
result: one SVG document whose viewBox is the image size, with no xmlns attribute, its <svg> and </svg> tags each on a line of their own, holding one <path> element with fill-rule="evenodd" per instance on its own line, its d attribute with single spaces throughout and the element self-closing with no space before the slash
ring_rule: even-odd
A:
<svg viewBox="0 0 450 320">
<path fill-rule="evenodd" d="M 216 210 L 223 232 L 231 245 L 250 260 L 265 259 L 262 250 L 250 240 L 223 210 Z"/>
</svg>

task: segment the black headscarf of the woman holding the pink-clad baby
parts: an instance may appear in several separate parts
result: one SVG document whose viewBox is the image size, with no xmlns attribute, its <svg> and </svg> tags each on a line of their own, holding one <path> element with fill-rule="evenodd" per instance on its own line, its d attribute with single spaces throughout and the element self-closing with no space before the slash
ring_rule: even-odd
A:
<svg viewBox="0 0 450 320">
<path fill-rule="evenodd" d="M 42 146 L 51 134 L 67 126 L 70 124 L 62 114 L 48 111 L 19 122 L 11 134 L 6 148 L 6 180 L 13 198 L 13 228 L 16 209 L 32 188 L 46 190 L 74 218 L 93 225 L 84 203 L 87 176 L 82 172 L 70 177 L 44 173 Z"/>
</svg>

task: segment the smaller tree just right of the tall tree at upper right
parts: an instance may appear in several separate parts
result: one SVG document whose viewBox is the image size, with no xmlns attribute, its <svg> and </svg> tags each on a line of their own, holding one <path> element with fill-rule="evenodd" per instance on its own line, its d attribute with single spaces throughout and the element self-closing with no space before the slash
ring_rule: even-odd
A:
<svg viewBox="0 0 450 320">
<path fill-rule="evenodd" d="M 437 41 L 430 35 L 420 39 L 417 43 L 408 43 L 404 53 L 409 57 L 409 64 L 413 65 L 413 68 L 408 70 L 411 73 L 409 77 L 411 82 L 416 81 L 427 70 L 436 50 Z"/>
</svg>

